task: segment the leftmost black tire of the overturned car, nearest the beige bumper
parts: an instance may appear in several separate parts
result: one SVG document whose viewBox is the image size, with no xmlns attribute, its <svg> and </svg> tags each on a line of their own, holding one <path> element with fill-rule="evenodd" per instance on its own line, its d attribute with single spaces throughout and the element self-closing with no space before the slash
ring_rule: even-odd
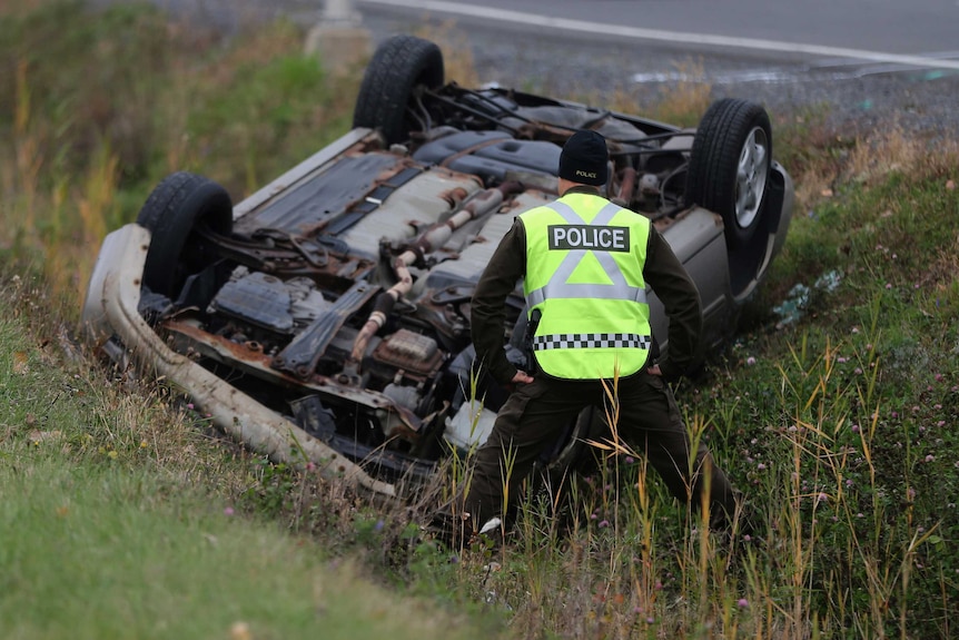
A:
<svg viewBox="0 0 959 640">
<path fill-rule="evenodd" d="M 194 230 L 206 225 L 228 235 L 233 230 L 233 201 L 218 184 L 178 171 L 164 178 L 150 193 L 137 224 L 150 230 L 150 248 L 144 265 L 144 284 L 154 293 L 175 298 L 188 275 L 217 259 Z"/>
</svg>

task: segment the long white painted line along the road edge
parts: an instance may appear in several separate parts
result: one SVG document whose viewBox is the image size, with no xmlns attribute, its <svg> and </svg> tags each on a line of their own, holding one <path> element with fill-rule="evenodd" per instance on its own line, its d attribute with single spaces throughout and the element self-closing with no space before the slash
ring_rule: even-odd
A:
<svg viewBox="0 0 959 640">
<path fill-rule="evenodd" d="M 436 11 L 454 16 L 468 16 L 484 20 L 500 20 L 513 24 L 528 24 L 538 29 L 564 29 L 579 31 L 581 33 L 595 33 L 599 36 L 617 36 L 633 40 L 655 40 L 682 45 L 710 45 L 714 47 L 732 47 L 738 49 L 752 49 L 757 51 L 778 51 L 783 53 L 803 53 L 808 56 L 828 56 L 833 58 L 850 58 L 866 60 L 869 62 L 892 62 L 908 65 L 923 69 L 959 69 L 959 60 L 942 60 L 926 56 L 902 56 L 899 53 L 887 53 L 882 51 L 866 51 L 862 49 L 847 49 L 843 47 L 825 47 L 821 45 L 802 45 L 798 42 L 781 42 L 778 40 L 762 40 L 757 38 L 733 38 L 729 36 L 714 36 L 710 33 L 690 33 L 685 31 L 664 31 L 661 29 L 641 29 L 637 27 L 624 27 L 622 24 L 604 24 L 602 22 L 589 22 L 585 20 L 570 20 L 566 18 L 552 18 L 550 16 L 537 16 L 536 13 L 523 13 L 508 9 L 492 9 L 487 7 L 474 7 L 456 2 L 444 2 L 443 0 L 359 0 L 365 4 L 382 4 L 385 7 L 401 7 L 404 9 L 416 9 L 419 11 Z"/>
</svg>

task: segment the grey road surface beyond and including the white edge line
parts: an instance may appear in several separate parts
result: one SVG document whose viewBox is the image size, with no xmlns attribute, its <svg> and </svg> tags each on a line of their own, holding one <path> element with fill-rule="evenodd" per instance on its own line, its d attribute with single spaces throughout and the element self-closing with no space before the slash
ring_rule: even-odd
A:
<svg viewBox="0 0 959 640">
<path fill-rule="evenodd" d="M 561 29 L 685 48 L 849 57 L 959 69 L 956 0 L 355 0 L 463 21 Z"/>
</svg>

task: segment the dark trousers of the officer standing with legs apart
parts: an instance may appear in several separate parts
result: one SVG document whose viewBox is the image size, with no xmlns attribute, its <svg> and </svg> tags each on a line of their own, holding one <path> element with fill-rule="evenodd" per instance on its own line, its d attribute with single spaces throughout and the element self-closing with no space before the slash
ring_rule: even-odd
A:
<svg viewBox="0 0 959 640">
<path fill-rule="evenodd" d="M 735 495 L 725 473 L 700 443 L 690 470 L 690 439 L 672 391 L 660 376 L 642 371 L 616 382 L 620 439 L 663 477 L 678 499 L 699 506 L 711 473 L 710 503 L 713 525 L 735 510 Z M 464 509 L 472 525 L 504 512 L 503 490 L 512 500 L 542 451 L 552 445 L 560 430 L 587 406 L 609 405 L 601 381 L 563 381 L 543 375 L 518 385 L 500 410 L 493 432 L 477 451 L 473 479 Z"/>
</svg>

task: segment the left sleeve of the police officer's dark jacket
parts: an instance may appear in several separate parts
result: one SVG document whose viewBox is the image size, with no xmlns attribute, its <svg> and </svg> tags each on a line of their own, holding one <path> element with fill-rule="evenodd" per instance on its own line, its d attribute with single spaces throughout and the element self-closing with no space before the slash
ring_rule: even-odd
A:
<svg viewBox="0 0 959 640">
<path fill-rule="evenodd" d="M 476 362 L 501 385 L 516 367 L 506 360 L 506 298 L 526 273 L 526 232 L 517 219 L 506 232 L 473 292 L 471 331 Z"/>
</svg>

